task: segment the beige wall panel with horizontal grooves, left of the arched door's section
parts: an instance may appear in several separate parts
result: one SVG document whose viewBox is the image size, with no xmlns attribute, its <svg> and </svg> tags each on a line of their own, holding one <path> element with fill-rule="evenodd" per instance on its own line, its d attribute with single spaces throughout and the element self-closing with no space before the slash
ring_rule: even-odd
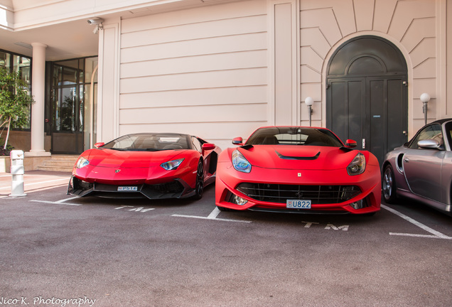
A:
<svg viewBox="0 0 452 307">
<path fill-rule="evenodd" d="M 267 124 L 266 1 L 124 19 L 119 134 L 195 134 L 225 148 Z"/>
</svg>

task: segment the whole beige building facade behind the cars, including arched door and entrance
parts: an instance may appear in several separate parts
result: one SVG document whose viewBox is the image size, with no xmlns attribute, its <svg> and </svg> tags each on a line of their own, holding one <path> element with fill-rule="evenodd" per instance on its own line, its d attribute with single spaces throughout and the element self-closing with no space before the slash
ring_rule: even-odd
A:
<svg viewBox="0 0 452 307">
<path fill-rule="evenodd" d="M 311 97 L 313 126 L 381 159 L 424 125 L 422 93 L 428 122 L 452 113 L 450 0 L 0 0 L 1 10 L 0 49 L 33 63 L 31 155 L 142 131 L 224 149 L 259 126 L 308 125 Z"/>
</svg>

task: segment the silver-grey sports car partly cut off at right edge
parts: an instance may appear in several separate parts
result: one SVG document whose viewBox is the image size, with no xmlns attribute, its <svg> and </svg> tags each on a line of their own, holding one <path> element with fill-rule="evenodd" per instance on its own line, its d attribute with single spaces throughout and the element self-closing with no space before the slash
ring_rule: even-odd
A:
<svg viewBox="0 0 452 307">
<path fill-rule="evenodd" d="M 387 203 L 402 196 L 452 215 L 451 134 L 452 119 L 440 119 L 426 124 L 411 141 L 386 154 L 382 190 Z"/>
</svg>

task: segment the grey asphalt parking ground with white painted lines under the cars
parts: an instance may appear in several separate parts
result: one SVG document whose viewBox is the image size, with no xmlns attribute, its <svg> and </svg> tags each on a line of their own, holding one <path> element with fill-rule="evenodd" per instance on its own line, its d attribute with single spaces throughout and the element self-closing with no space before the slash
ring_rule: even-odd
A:
<svg viewBox="0 0 452 307">
<path fill-rule="evenodd" d="M 220 212 L 66 195 L 70 173 L 0 174 L 0 306 L 452 306 L 452 218 Z"/>
</svg>

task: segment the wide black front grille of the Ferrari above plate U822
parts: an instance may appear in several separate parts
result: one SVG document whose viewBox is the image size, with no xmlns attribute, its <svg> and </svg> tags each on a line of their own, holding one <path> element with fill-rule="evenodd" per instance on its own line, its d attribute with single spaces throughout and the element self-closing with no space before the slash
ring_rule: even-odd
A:
<svg viewBox="0 0 452 307">
<path fill-rule="evenodd" d="M 237 190 L 249 198 L 269 203 L 311 200 L 312 204 L 343 203 L 361 193 L 356 185 L 284 185 L 240 183 Z"/>
</svg>

